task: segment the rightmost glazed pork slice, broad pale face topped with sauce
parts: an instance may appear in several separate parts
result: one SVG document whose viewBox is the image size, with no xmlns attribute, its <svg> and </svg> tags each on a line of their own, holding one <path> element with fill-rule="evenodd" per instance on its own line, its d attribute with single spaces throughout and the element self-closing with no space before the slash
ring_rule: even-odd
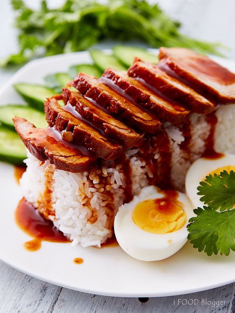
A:
<svg viewBox="0 0 235 313">
<path fill-rule="evenodd" d="M 235 74 L 205 55 L 184 48 L 160 48 L 159 66 L 169 68 L 179 79 L 204 95 L 226 104 L 235 101 Z"/>
</svg>

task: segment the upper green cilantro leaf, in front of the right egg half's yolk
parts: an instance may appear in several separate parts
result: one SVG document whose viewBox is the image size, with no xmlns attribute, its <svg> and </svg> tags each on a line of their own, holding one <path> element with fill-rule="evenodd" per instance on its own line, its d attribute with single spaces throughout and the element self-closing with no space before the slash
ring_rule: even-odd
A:
<svg viewBox="0 0 235 313">
<path fill-rule="evenodd" d="M 226 171 L 220 175 L 210 174 L 206 176 L 205 182 L 200 182 L 197 188 L 198 195 L 203 195 L 201 201 L 208 204 L 211 209 L 220 211 L 229 210 L 235 203 L 235 172 L 231 171 L 229 174 Z"/>
</svg>

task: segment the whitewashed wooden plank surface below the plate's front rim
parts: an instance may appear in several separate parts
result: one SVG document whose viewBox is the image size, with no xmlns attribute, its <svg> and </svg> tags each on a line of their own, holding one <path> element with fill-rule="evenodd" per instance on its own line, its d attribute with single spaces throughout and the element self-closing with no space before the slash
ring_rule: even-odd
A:
<svg viewBox="0 0 235 313">
<path fill-rule="evenodd" d="M 235 283 L 187 295 L 142 299 L 147 300 L 142 303 L 138 298 L 61 288 L 0 262 L 0 313 L 233 313 L 234 293 Z"/>
</svg>

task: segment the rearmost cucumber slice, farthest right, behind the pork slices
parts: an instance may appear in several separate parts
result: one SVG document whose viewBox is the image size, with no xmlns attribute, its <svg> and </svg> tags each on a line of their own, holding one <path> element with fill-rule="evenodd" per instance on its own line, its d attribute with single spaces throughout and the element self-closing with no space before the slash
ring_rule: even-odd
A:
<svg viewBox="0 0 235 313">
<path fill-rule="evenodd" d="M 146 49 L 139 47 L 130 47 L 118 44 L 113 47 L 113 52 L 115 57 L 127 67 L 131 66 L 135 57 L 138 57 L 143 61 L 158 63 L 157 55 L 151 54 Z"/>
</svg>

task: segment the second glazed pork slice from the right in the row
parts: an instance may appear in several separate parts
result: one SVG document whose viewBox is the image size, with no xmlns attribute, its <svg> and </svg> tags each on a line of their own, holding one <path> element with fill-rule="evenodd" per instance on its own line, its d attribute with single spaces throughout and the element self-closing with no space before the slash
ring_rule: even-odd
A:
<svg viewBox="0 0 235 313">
<path fill-rule="evenodd" d="M 182 81 L 168 75 L 159 69 L 158 64 L 143 62 L 135 58 L 128 69 L 128 75 L 141 79 L 141 82 L 155 92 L 171 99 L 179 101 L 192 112 L 207 114 L 215 110 L 215 105 Z"/>
</svg>

